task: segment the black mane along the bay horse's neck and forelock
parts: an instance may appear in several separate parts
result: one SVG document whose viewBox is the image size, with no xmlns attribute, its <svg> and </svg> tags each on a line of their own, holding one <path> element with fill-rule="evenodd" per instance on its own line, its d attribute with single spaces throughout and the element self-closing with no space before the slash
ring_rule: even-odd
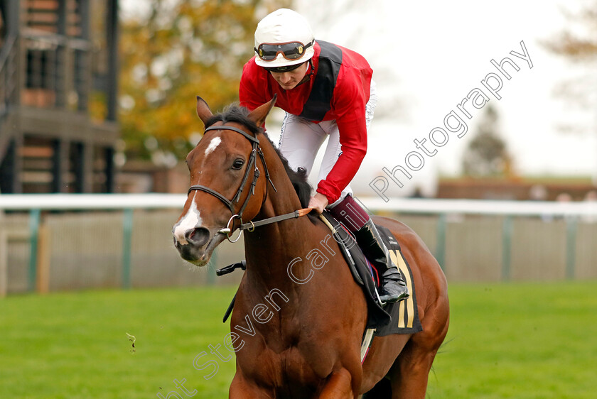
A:
<svg viewBox="0 0 597 399">
<path fill-rule="evenodd" d="M 263 132 L 259 126 L 257 126 L 251 119 L 248 117 L 249 110 L 244 108 L 244 106 L 237 106 L 231 105 L 228 106 L 224 111 L 220 114 L 215 114 L 208 121 L 205 123 L 205 129 L 212 126 L 216 122 L 222 122 L 224 124 L 228 122 L 235 122 L 237 124 L 242 124 L 245 126 L 251 133 L 257 134 L 259 132 Z M 290 165 L 288 164 L 288 160 L 284 158 L 284 156 L 280 153 L 279 149 L 274 146 L 274 143 L 271 142 L 267 133 L 263 132 L 263 136 L 267 138 L 271 146 L 274 147 L 276 153 L 280 157 L 282 161 L 282 165 L 284 165 L 284 169 L 286 170 L 286 174 L 290 178 L 292 185 L 294 186 L 294 190 L 296 191 L 296 195 L 298 195 L 298 200 L 301 201 L 301 207 L 306 208 L 309 200 L 311 199 L 311 185 L 309 185 L 307 181 L 307 173 L 306 170 L 300 168 L 297 171 L 292 170 Z"/>
</svg>

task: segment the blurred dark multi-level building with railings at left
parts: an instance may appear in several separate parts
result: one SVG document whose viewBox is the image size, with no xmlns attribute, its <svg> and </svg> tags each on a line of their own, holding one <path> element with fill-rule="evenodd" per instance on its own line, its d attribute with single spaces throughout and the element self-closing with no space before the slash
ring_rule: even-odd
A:
<svg viewBox="0 0 597 399">
<path fill-rule="evenodd" d="M 0 192 L 113 192 L 118 0 L 0 0 Z"/>
</svg>

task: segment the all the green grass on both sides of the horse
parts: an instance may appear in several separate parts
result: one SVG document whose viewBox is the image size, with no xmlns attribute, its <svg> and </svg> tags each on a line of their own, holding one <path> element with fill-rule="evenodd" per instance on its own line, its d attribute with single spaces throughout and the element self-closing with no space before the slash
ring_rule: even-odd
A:
<svg viewBox="0 0 597 399">
<path fill-rule="evenodd" d="M 0 300 L 4 398 L 156 398 L 183 383 L 226 398 L 222 315 L 235 288 L 90 291 Z M 451 285 L 429 398 L 594 398 L 597 283 Z M 135 351 L 127 333 L 136 337 Z M 202 352 L 197 370 L 193 359 Z M 188 397 L 178 390 L 183 397 Z M 173 395 L 171 395 L 171 398 Z"/>
</svg>

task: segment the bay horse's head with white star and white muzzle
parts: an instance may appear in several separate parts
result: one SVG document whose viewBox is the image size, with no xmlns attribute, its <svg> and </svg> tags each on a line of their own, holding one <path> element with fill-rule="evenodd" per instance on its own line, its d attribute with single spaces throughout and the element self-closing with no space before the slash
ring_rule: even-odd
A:
<svg viewBox="0 0 597 399">
<path fill-rule="evenodd" d="M 205 134 L 187 156 L 190 188 L 185 207 L 173 227 L 181 257 L 205 266 L 215 247 L 232 230 L 259 212 L 267 190 L 257 133 L 276 99 L 248 114 L 235 107 L 213 115 L 197 97 L 197 114 Z M 261 170 L 261 171 L 260 171 Z"/>
</svg>

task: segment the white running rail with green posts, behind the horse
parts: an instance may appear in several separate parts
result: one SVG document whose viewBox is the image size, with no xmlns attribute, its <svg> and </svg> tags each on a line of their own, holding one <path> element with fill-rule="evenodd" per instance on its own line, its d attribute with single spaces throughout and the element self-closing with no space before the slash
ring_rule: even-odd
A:
<svg viewBox="0 0 597 399">
<path fill-rule="evenodd" d="M 133 234 L 134 209 L 182 209 L 185 194 L 48 194 L 48 195 L 0 195 L 0 217 L 4 211 L 29 213 L 28 240 L 31 251 L 28 262 L 28 289 L 34 290 L 38 282 L 38 241 L 43 212 L 49 210 L 114 210 L 122 211 L 122 287 L 131 286 L 131 237 Z M 576 275 L 576 241 L 579 223 L 597 221 L 597 202 L 530 202 L 495 200 L 424 200 L 393 199 L 384 202 L 379 197 L 357 197 L 370 212 L 399 212 L 400 214 L 434 214 L 435 251 L 440 265 L 446 262 L 446 236 L 449 214 L 478 214 L 502 216 L 502 280 L 512 277 L 512 237 L 516 217 L 564 217 L 565 275 Z M 6 229 L 0 224 L 0 297 L 6 295 Z M 586 231 L 586 229 L 582 230 Z M 585 233 L 586 234 L 586 233 Z M 27 239 L 27 238 L 26 238 Z M 495 240 L 495 237 L 494 237 Z M 586 243 L 586 238 L 583 239 Z M 586 245 L 586 244 L 585 244 Z M 41 258 L 40 258 L 41 259 Z M 46 283 L 47 285 L 47 283 Z"/>
</svg>

